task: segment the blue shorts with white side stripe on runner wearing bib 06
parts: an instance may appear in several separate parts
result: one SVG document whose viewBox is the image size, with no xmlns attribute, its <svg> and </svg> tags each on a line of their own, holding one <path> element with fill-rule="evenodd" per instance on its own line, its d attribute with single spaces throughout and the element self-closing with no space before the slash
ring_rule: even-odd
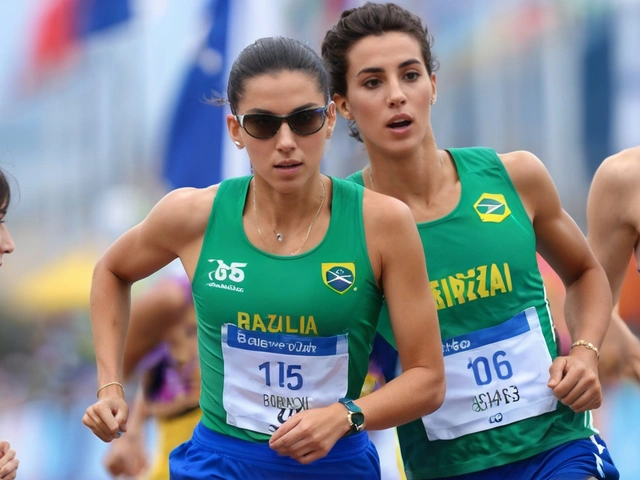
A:
<svg viewBox="0 0 640 480">
<path fill-rule="evenodd" d="M 482 472 L 440 480 L 618 480 L 604 441 L 598 435 L 562 444 L 531 458 Z"/>
</svg>

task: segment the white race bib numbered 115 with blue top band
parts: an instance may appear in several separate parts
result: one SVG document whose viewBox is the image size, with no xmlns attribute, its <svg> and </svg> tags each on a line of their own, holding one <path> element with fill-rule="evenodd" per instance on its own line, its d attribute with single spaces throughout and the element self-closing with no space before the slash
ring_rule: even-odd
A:
<svg viewBox="0 0 640 480">
<path fill-rule="evenodd" d="M 222 326 L 227 423 L 272 434 L 301 410 L 347 393 L 347 335 L 303 337 Z"/>
</svg>

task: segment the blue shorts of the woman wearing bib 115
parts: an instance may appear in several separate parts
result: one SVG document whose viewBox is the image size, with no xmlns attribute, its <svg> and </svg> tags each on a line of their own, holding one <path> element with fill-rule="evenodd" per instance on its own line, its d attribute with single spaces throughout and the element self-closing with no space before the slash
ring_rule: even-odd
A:
<svg viewBox="0 0 640 480">
<path fill-rule="evenodd" d="M 379 480 L 378 452 L 366 432 L 341 438 L 309 465 L 280 456 L 267 443 L 221 435 L 199 423 L 169 456 L 171 480 Z"/>
</svg>

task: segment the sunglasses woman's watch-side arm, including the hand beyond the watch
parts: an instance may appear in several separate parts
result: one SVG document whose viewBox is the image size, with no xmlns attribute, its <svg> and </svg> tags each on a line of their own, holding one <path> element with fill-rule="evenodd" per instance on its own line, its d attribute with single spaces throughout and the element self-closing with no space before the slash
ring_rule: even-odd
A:
<svg viewBox="0 0 640 480">
<path fill-rule="evenodd" d="M 404 203 L 369 190 L 363 212 L 367 249 L 376 279 L 389 304 L 403 373 L 358 399 L 366 428 L 380 430 L 435 411 L 444 400 L 444 360 L 435 303 L 431 296 L 422 242 Z M 281 455 L 310 463 L 349 431 L 339 403 L 312 408 L 289 418 L 271 437 Z"/>
</svg>

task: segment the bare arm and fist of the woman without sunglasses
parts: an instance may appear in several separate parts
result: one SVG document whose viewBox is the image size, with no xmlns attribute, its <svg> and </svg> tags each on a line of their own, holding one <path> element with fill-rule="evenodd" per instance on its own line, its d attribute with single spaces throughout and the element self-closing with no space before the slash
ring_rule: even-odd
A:
<svg viewBox="0 0 640 480">
<path fill-rule="evenodd" d="M 587 240 L 560 204 L 549 172 L 529 152 L 501 159 L 533 223 L 537 250 L 562 279 L 567 297 L 565 319 L 572 342 L 585 340 L 600 347 L 611 317 L 611 293 L 604 270 Z M 575 347 L 558 357 L 550 369 L 549 387 L 576 412 L 598 408 L 602 390 L 594 351 Z"/>
</svg>

